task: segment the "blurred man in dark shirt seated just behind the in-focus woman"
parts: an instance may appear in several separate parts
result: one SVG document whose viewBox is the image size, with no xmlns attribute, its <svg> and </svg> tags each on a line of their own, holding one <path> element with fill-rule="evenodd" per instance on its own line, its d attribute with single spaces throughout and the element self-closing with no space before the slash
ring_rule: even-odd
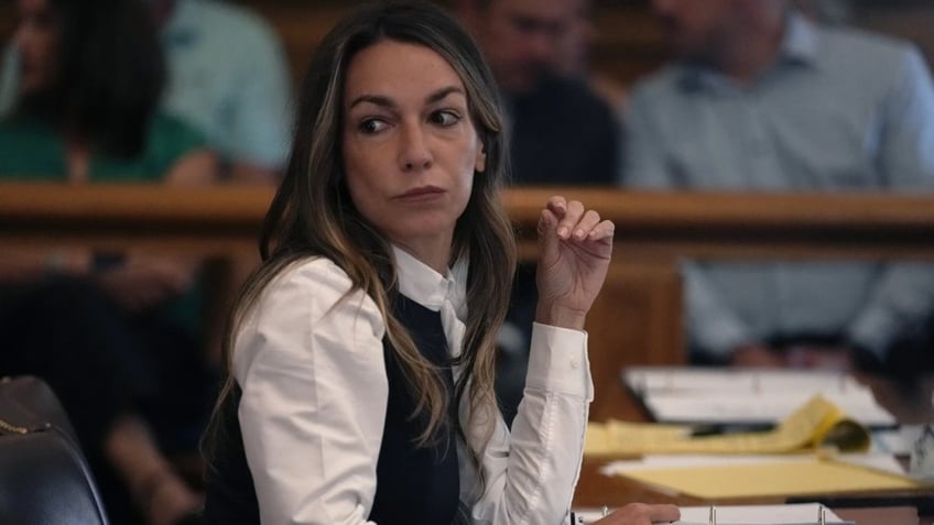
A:
<svg viewBox="0 0 934 525">
<path fill-rule="evenodd" d="M 610 107 L 582 73 L 585 0 L 459 0 L 457 11 L 503 97 L 515 185 L 609 185 L 619 166 Z M 522 396 L 535 269 L 520 265 L 500 333 L 497 393 L 507 423 Z"/>
</svg>

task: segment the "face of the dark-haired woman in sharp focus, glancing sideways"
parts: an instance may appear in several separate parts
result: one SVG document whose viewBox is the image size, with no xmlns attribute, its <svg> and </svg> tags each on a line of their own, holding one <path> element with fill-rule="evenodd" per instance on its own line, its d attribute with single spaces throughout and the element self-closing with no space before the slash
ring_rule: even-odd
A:
<svg viewBox="0 0 934 525">
<path fill-rule="evenodd" d="M 460 77 L 427 47 L 384 40 L 351 59 L 344 100 L 357 209 L 415 256 L 446 258 L 475 171 L 486 168 Z"/>
</svg>

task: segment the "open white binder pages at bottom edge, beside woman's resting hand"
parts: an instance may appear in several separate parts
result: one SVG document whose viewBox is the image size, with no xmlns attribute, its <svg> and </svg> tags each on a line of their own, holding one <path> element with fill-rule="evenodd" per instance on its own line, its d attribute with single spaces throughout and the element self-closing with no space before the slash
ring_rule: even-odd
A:
<svg viewBox="0 0 934 525">
<path fill-rule="evenodd" d="M 824 508 L 818 503 L 796 503 L 793 505 L 729 505 L 717 506 L 717 525 L 817 525 L 819 524 L 821 511 Z M 578 524 L 589 524 L 598 521 L 602 515 L 600 511 L 575 512 Z M 681 521 L 676 525 L 709 525 L 710 507 L 708 506 L 683 506 L 681 507 Z M 826 525 L 851 525 L 840 518 L 829 508 L 824 508 L 824 523 Z"/>
</svg>

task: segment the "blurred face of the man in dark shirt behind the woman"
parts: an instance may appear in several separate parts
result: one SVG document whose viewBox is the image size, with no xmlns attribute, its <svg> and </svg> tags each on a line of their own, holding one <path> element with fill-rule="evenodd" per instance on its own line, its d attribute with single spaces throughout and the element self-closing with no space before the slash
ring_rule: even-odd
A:
<svg viewBox="0 0 934 525">
<path fill-rule="evenodd" d="M 695 0 L 696 1 L 696 0 Z M 579 0 L 492 0 L 478 13 L 477 36 L 500 87 L 523 92 L 554 68 Z"/>
</svg>

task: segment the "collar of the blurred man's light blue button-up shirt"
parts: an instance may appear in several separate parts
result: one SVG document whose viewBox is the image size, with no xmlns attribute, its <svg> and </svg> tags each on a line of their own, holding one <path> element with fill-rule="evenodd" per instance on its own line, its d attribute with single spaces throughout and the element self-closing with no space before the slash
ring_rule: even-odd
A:
<svg viewBox="0 0 934 525">
<path fill-rule="evenodd" d="M 818 34 L 813 22 L 795 10 L 790 10 L 785 19 L 785 29 L 775 64 L 763 75 L 769 75 L 782 65 L 800 64 L 817 66 Z M 687 88 L 727 89 L 732 83 L 718 70 L 693 64 L 680 66 L 682 86 Z"/>
</svg>

